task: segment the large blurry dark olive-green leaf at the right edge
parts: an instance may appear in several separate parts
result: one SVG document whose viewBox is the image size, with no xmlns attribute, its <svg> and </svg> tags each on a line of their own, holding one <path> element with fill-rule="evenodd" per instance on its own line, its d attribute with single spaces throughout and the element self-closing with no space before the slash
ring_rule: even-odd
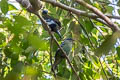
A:
<svg viewBox="0 0 120 80">
<path fill-rule="evenodd" d="M 105 41 L 95 50 L 96 56 L 102 56 L 102 54 L 108 54 L 110 50 L 114 48 L 117 38 L 120 37 L 120 31 L 114 32 L 113 35 L 106 37 Z"/>
</svg>

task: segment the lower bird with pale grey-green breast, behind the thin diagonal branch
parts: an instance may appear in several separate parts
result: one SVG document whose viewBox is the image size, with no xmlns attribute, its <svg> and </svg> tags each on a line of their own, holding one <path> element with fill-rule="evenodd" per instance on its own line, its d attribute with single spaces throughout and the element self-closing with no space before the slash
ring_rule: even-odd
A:
<svg viewBox="0 0 120 80">
<path fill-rule="evenodd" d="M 61 43 L 61 47 L 66 52 L 66 55 L 68 55 L 71 52 L 73 41 L 74 40 L 72 38 L 67 38 Z M 56 51 L 56 54 L 55 54 L 54 64 L 52 65 L 52 68 L 51 68 L 51 70 L 53 72 L 54 72 L 54 70 L 57 69 L 58 64 L 60 64 L 63 59 L 65 59 L 65 55 L 62 53 L 61 49 L 58 48 L 58 50 Z"/>
</svg>

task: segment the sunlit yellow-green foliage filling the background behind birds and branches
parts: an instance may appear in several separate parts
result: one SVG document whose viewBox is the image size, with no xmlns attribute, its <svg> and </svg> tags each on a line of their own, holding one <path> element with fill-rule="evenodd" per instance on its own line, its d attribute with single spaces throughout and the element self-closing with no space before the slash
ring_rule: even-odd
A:
<svg viewBox="0 0 120 80">
<path fill-rule="evenodd" d="M 57 1 L 90 12 L 74 0 Z M 112 14 L 114 9 L 108 0 L 85 1 L 104 14 Z M 43 6 L 49 15 L 61 21 L 63 38 L 75 40 L 68 57 L 81 80 L 120 79 L 120 45 L 115 45 L 119 34 L 112 35 L 111 29 L 94 19 L 73 15 L 48 3 L 43 3 Z M 58 47 L 53 42 L 50 50 L 50 35 L 43 29 L 39 18 L 22 7 L 22 10 L 17 9 L 7 0 L 1 0 L 0 8 L 0 80 L 55 79 L 49 53 L 54 56 Z M 55 37 L 61 43 L 56 34 Z M 56 79 L 77 80 L 77 77 L 69 64 L 63 61 Z"/>
</svg>

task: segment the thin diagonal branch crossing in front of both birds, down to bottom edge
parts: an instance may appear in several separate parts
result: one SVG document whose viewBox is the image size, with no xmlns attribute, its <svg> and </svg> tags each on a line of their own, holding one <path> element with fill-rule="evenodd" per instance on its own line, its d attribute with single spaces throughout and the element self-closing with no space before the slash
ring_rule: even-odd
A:
<svg viewBox="0 0 120 80">
<path fill-rule="evenodd" d="M 35 14 L 35 15 L 41 20 L 42 24 L 44 25 L 43 27 L 44 27 L 45 29 L 47 29 L 47 31 L 48 31 L 49 35 L 51 36 L 51 38 L 55 41 L 55 43 L 57 44 L 57 46 L 60 48 L 60 50 L 62 51 L 62 53 L 65 55 L 65 58 L 67 59 L 70 67 L 72 68 L 73 72 L 74 72 L 75 75 L 77 76 L 78 80 L 81 80 L 80 77 L 78 76 L 75 68 L 74 68 L 73 65 L 71 64 L 68 56 L 66 55 L 66 52 L 62 49 L 62 47 L 59 45 L 59 43 L 58 43 L 57 39 L 55 38 L 55 36 L 52 34 L 52 32 L 51 32 L 49 26 L 47 25 L 46 21 L 39 15 L 39 13 L 38 13 L 38 9 L 39 9 L 39 8 L 38 8 L 37 10 L 35 10 L 34 8 L 36 8 L 36 7 L 34 7 L 34 5 L 32 5 L 32 4 L 30 4 L 29 0 L 28 0 L 28 1 L 17 0 L 17 1 L 18 1 L 22 6 L 25 4 L 24 7 L 27 9 L 27 11 L 30 12 L 30 13 Z M 29 5 L 30 5 L 30 6 L 29 6 Z"/>
</svg>

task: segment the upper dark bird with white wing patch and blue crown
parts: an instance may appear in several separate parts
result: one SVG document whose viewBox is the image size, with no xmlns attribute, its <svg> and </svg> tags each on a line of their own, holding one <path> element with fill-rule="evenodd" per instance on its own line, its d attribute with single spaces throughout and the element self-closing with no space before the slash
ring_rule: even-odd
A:
<svg viewBox="0 0 120 80">
<path fill-rule="evenodd" d="M 42 11 L 42 17 L 50 27 L 52 32 L 55 32 L 58 34 L 60 38 L 62 38 L 61 33 L 60 33 L 60 28 L 61 28 L 61 22 L 58 19 L 55 19 L 51 16 L 48 15 L 48 10 L 43 10 Z M 45 29 L 47 30 L 47 29 Z"/>
</svg>

